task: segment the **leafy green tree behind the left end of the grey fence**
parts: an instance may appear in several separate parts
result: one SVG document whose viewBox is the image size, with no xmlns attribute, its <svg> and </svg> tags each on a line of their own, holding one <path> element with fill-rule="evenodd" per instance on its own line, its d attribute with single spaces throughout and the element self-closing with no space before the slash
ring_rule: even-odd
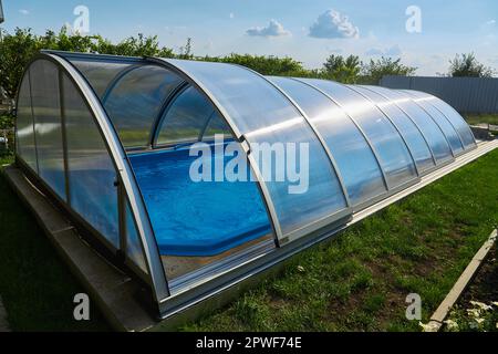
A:
<svg viewBox="0 0 498 354">
<path fill-rule="evenodd" d="M 378 60 L 371 59 L 369 63 L 362 65 L 360 82 L 377 85 L 385 75 L 412 76 L 416 70 L 417 67 L 402 64 L 401 58 L 396 60 L 385 56 Z"/>
</svg>

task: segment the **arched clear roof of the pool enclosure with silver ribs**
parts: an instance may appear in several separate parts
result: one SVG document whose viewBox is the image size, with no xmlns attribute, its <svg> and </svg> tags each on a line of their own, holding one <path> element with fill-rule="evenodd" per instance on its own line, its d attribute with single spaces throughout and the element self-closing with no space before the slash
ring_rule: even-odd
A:
<svg viewBox="0 0 498 354">
<path fill-rule="evenodd" d="M 157 302 L 169 295 L 168 284 L 128 155 L 159 147 L 165 114 L 188 87 L 212 104 L 247 154 L 280 247 L 335 227 L 476 147 L 461 116 L 421 92 L 266 77 L 226 63 L 51 51 L 41 59 L 71 77 L 93 113 L 124 185 Z M 211 116 L 199 124 L 199 139 Z M 263 178 L 252 153 L 261 143 L 308 143 L 305 192 L 289 194 L 290 181 Z"/>
</svg>

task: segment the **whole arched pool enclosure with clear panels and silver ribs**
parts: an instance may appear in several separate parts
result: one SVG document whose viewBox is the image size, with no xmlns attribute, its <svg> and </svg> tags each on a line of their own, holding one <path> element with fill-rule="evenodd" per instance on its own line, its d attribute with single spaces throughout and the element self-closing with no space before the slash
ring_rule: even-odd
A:
<svg viewBox="0 0 498 354">
<path fill-rule="evenodd" d="M 163 317 L 476 147 L 461 116 L 425 93 L 200 61 L 44 51 L 17 107 L 18 164 L 143 281 Z M 307 147 L 299 192 L 295 179 L 264 174 L 258 147 L 279 144 Z M 194 168 L 206 150 L 209 164 Z M 216 175 L 236 159 L 238 178 Z"/>
</svg>

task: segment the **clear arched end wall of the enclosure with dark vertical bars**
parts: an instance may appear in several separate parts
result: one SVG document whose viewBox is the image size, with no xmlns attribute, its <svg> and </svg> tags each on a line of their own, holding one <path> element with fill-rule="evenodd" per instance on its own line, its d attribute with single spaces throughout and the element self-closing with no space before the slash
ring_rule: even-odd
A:
<svg viewBox="0 0 498 354">
<path fill-rule="evenodd" d="M 18 95 L 17 159 L 112 252 L 127 244 L 127 260 L 146 274 L 135 217 L 129 208 L 124 216 L 127 192 L 120 197 L 115 162 L 81 92 L 50 55 L 30 64 Z"/>
</svg>

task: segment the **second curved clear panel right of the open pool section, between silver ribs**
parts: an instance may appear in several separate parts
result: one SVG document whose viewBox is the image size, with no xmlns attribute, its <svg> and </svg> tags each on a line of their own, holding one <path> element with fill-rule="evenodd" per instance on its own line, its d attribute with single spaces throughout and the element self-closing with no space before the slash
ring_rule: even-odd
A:
<svg viewBox="0 0 498 354">
<path fill-rule="evenodd" d="M 353 206 L 386 192 L 372 149 L 354 123 L 333 101 L 295 80 L 271 80 L 299 104 L 322 135 L 335 159 Z"/>
</svg>

